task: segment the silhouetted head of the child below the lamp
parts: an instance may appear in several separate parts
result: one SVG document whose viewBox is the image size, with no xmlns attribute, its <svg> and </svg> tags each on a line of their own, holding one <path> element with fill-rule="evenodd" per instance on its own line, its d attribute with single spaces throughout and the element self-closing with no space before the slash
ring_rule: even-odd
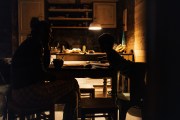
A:
<svg viewBox="0 0 180 120">
<path fill-rule="evenodd" d="M 113 49 L 115 38 L 110 33 L 103 33 L 98 37 L 98 41 L 101 50 L 106 52 Z"/>
</svg>

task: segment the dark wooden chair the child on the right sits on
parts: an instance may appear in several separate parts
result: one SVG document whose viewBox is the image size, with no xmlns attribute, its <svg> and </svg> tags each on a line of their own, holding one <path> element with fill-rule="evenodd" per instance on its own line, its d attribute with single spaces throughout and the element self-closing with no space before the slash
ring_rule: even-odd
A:
<svg viewBox="0 0 180 120">
<path fill-rule="evenodd" d="M 135 63 L 133 77 L 128 78 L 130 80 L 130 91 L 128 91 L 128 93 L 124 93 L 122 92 L 122 90 L 117 95 L 117 104 L 119 106 L 120 120 L 125 120 L 127 111 L 133 106 L 137 106 L 143 109 L 143 100 L 145 94 L 145 75 L 146 63 Z M 121 78 L 126 78 L 122 76 Z"/>
</svg>

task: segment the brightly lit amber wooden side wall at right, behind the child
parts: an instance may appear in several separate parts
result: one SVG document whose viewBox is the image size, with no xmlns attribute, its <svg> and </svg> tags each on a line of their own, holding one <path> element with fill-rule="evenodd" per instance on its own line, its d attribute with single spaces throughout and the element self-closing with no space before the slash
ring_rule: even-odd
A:
<svg viewBox="0 0 180 120">
<path fill-rule="evenodd" d="M 135 61 L 145 62 L 145 0 L 135 1 L 135 16 L 134 16 L 134 54 Z"/>
</svg>

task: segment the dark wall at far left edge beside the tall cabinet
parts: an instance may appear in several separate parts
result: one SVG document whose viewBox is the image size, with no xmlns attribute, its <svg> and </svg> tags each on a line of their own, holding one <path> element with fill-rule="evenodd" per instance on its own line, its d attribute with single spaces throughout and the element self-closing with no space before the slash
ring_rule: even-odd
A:
<svg viewBox="0 0 180 120">
<path fill-rule="evenodd" d="M 0 58 L 9 57 L 12 54 L 12 14 L 11 0 L 3 0 L 0 3 Z"/>
</svg>

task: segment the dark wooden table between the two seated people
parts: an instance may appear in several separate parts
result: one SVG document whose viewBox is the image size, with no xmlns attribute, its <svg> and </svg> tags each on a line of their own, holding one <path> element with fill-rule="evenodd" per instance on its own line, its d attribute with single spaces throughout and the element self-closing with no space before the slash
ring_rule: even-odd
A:
<svg viewBox="0 0 180 120">
<path fill-rule="evenodd" d="M 117 73 L 113 72 L 109 67 L 85 68 L 84 66 L 63 66 L 60 70 L 56 70 L 53 65 L 50 65 L 50 72 L 55 74 L 58 78 L 73 77 L 73 78 L 110 78 L 112 85 L 112 97 L 117 95 Z"/>
</svg>

